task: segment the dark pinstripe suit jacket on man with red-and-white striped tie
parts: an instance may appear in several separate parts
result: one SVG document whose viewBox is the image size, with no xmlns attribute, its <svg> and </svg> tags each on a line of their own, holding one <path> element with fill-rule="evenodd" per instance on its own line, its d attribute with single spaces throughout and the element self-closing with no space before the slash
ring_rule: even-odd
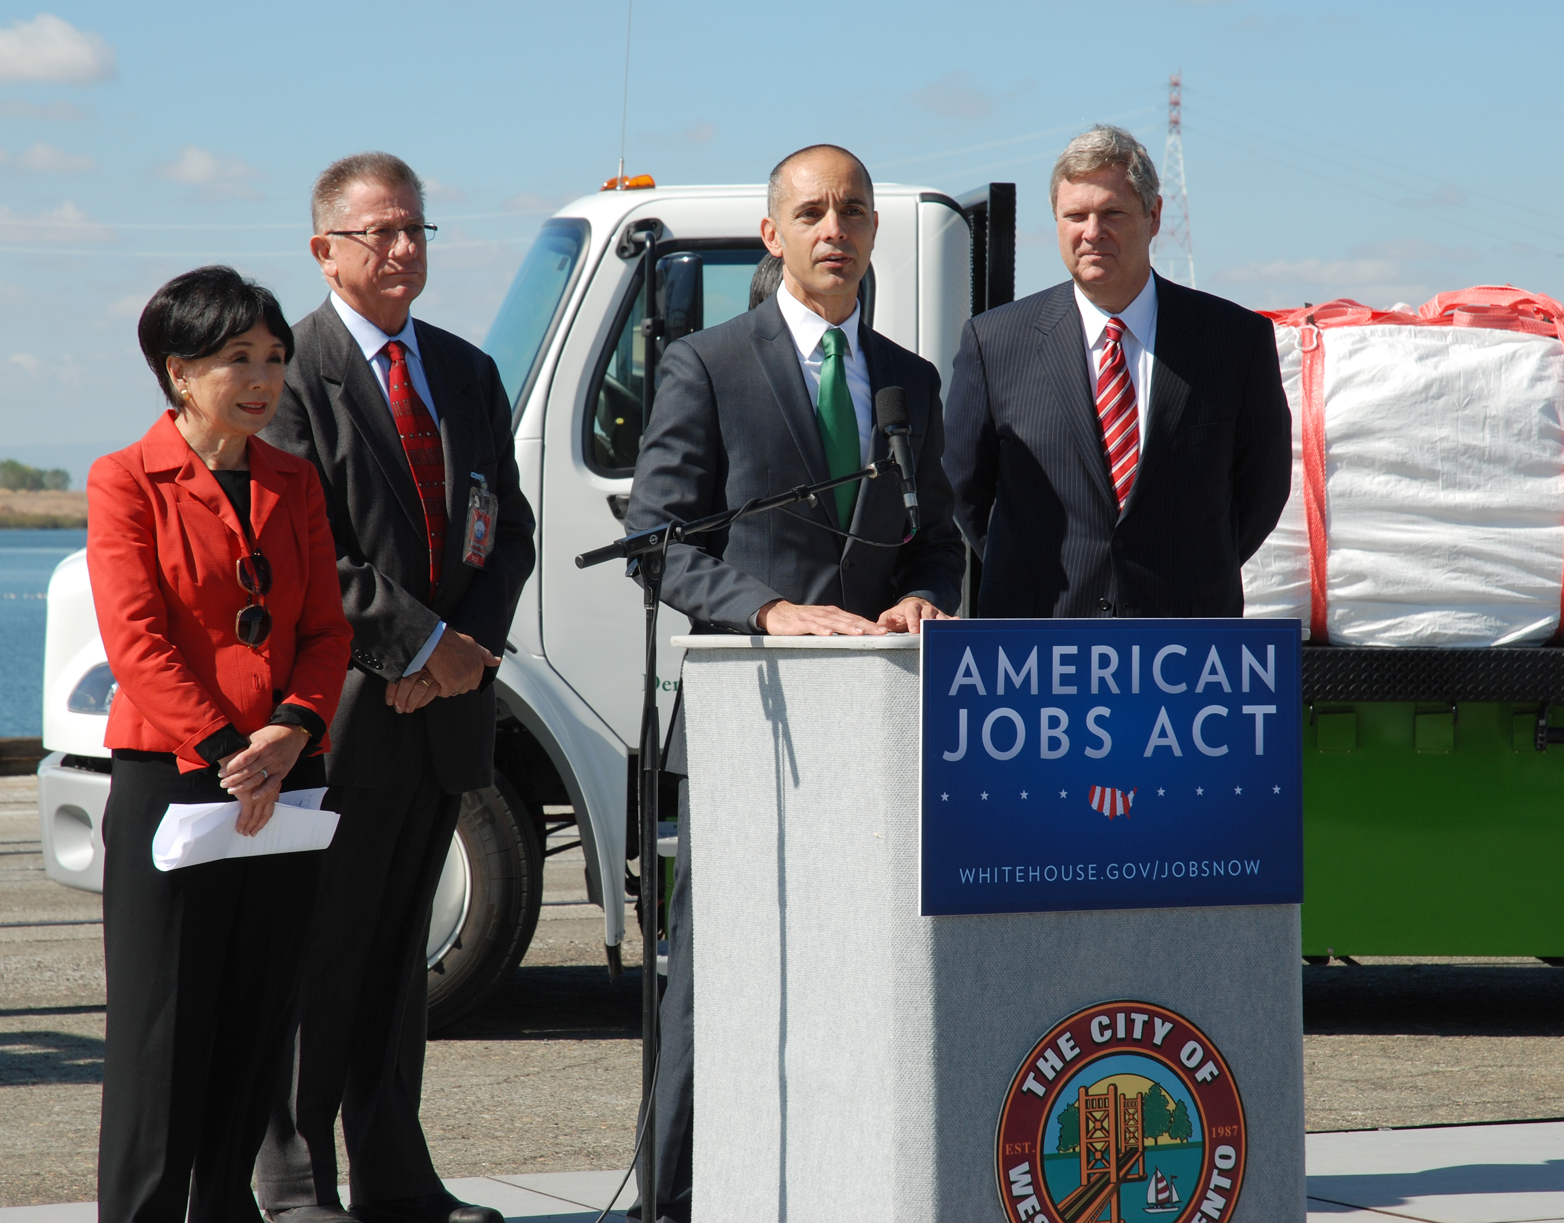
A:
<svg viewBox="0 0 1564 1223">
<path fill-rule="evenodd" d="M 979 616 L 1242 616 L 1292 480 L 1270 322 L 1157 277 L 1142 463 L 1120 513 L 1071 282 L 976 316 L 946 410 Z"/>
</svg>

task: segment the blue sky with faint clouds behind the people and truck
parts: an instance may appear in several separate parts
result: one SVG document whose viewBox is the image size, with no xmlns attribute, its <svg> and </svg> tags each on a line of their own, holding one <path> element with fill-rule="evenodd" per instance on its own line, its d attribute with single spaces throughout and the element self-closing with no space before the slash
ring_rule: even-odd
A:
<svg viewBox="0 0 1564 1223">
<path fill-rule="evenodd" d="M 881 181 L 1015 181 L 1031 292 L 1064 277 L 1062 144 L 1120 122 L 1160 166 L 1182 70 L 1200 288 L 1564 297 L 1561 45 L 1558 3 L 635 0 L 626 169 L 759 181 L 835 141 Z M 416 313 L 482 339 L 541 217 L 615 170 L 624 50 L 624 0 L 0 3 L 0 457 L 84 474 L 145 430 L 135 321 L 186 267 L 313 310 L 310 183 L 366 147 L 432 188 Z"/>
</svg>

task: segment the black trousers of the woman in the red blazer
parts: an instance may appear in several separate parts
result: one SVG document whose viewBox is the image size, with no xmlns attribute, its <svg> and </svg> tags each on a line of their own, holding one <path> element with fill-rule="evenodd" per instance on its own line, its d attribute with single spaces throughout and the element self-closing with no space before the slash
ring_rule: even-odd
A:
<svg viewBox="0 0 1564 1223">
<path fill-rule="evenodd" d="M 266 1132 L 322 854 L 177 871 L 152 863 L 170 802 L 228 802 L 216 769 L 116 751 L 103 813 L 108 1032 L 99 1128 L 105 1223 L 258 1220 Z M 319 757 L 286 788 L 325 785 Z"/>
</svg>

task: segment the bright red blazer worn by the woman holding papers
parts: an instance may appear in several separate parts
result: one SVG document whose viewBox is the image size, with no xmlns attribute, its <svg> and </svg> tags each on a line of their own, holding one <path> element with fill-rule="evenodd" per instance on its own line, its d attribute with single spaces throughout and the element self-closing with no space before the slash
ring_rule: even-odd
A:
<svg viewBox="0 0 1564 1223">
<path fill-rule="evenodd" d="M 249 554 L 239 516 L 174 413 L 92 464 L 88 572 L 119 680 L 106 748 L 174 752 L 191 773 L 206 768 L 197 743 L 228 723 L 253 733 L 285 701 L 332 723 L 352 629 L 321 479 L 260 438 L 249 460 L 250 530 L 272 565 L 272 632 L 260 649 L 233 627 L 250 601 L 235 572 Z"/>
</svg>

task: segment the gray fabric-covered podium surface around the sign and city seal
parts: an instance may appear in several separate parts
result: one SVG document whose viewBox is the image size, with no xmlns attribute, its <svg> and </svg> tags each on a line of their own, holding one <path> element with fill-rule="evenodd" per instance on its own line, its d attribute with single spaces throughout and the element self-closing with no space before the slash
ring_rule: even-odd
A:
<svg viewBox="0 0 1564 1223">
<path fill-rule="evenodd" d="M 1118 998 L 1228 1059 L 1248 1157 L 1223 1223 L 1303 1223 L 1297 906 L 920 916 L 918 640 L 674 644 L 698 1223 L 1003 1223 L 1012 1076 L 1054 1023 Z"/>
</svg>

